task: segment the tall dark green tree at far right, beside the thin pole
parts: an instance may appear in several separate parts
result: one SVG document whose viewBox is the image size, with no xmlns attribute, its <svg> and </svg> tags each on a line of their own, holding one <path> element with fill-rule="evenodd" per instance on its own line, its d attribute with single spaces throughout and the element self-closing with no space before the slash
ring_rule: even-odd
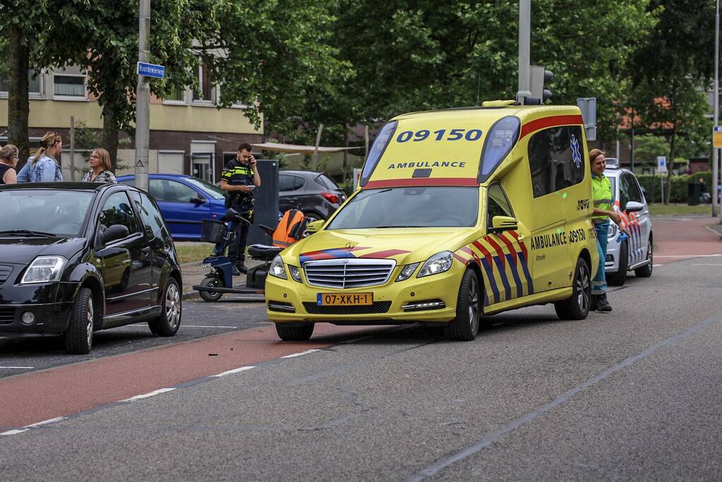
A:
<svg viewBox="0 0 722 482">
<path fill-rule="evenodd" d="M 695 0 L 652 0 L 659 22 L 633 58 L 633 102 L 640 123 L 666 136 L 669 159 L 679 151 L 679 136 L 699 138 L 707 130 L 709 106 L 700 87 L 713 70 L 714 4 Z M 697 142 L 697 145 L 700 145 Z M 672 171 L 667 176 L 669 203 Z"/>
</svg>

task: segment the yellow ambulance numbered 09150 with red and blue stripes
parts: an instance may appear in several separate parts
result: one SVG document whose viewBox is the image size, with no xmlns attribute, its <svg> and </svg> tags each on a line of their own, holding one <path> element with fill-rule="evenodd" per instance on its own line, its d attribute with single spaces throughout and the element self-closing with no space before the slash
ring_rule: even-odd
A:
<svg viewBox="0 0 722 482">
<path fill-rule="evenodd" d="M 484 315 L 553 302 L 583 319 L 599 263 L 580 110 L 482 107 L 386 123 L 360 187 L 280 253 L 266 313 L 283 340 L 314 323 L 443 325 L 472 340 Z"/>
</svg>

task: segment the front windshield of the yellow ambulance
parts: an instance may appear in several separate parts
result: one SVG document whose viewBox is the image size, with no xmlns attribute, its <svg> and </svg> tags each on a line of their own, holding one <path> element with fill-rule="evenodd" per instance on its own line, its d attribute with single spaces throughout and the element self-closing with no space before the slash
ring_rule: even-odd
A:
<svg viewBox="0 0 722 482">
<path fill-rule="evenodd" d="M 478 188 L 365 189 L 336 215 L 328 229 L 472 227 Z"/>
</svg>

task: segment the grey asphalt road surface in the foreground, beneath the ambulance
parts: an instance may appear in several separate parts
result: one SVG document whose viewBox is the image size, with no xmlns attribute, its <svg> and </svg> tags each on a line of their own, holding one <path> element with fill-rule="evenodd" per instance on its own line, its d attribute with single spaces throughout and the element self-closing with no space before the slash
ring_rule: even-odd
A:
<svg viewBox="0 0 722 482">
<path fill-rule="evenodd" d="M 415 326 L 337 328 L 314 337 L 306 348 L 316 351 L 301 345 L 293 348 L 300 356 L 269 356 L 252 369 L 59 413 L 66 419 L 2 436 L 0 473 L 73 481 L 719 480 L 721 270 L 719 257 L 668 263 L 609 294 L 611 314 L 570 322 L 549 306 L 516 310 L 490 317 L 473 342 Z M 258 308 L 223 304 L 211 317 L 208 307 L 186 302 L 184 323 L 238 329 L 215 328 L 232 331 L 207 340 L 256 333 L 243 346 L 283 346 L 272 328 L 258 328 Z M 133 344 L 157 356 L 173 348 L 144 330 L 108 332 L 94 353 L 105 359 L 92 364 L 122 360 L 109 355 Z M 195 330 L 206 331 L 179 336 L 212 328 Z M 0 342 L 14 362 L 62 363 L 57 347 L 38 356 Z M 6 378 L 0 393 L 5 381 L 34 376 Z"/>
</svg>

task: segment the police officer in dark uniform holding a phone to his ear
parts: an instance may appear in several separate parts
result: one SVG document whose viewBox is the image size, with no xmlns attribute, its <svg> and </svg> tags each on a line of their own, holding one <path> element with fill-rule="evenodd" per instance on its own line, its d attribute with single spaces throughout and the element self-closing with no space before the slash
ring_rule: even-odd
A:
<svg viewBox="0 0 722 482">
<path fill-rule="evenodd" d="M 256 158 L 251 154 L 251 144 L 238 146 L 235 159 L 223 167 L 221 189 L 228 192 L 226 206 L 243 213 L 243 217 L 253 222 L 253 186 L 261 185 L 261 176 L 256 170 Z M 233 265 L 233 274 L 248 273 L 243 266 L 245 261 L 245 243 L 248 242 L 248 224 L 240 223 L 235 229 L 235 237 L 228 247 L 228 258 Z"/>
</svg>

